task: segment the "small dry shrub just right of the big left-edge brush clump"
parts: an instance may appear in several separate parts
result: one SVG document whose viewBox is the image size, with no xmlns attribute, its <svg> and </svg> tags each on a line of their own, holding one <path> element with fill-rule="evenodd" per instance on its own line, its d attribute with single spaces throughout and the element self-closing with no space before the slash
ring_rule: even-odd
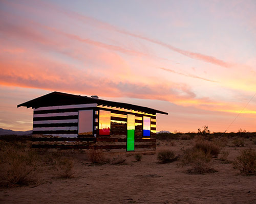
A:
<svg viewBox="0 0 256 204">
<path fill-rule="evenodd" d="M 61 158 L 57 164 L 57 174 L 61 178 L 70 178 L 74 175 L 74 161 L 70 158 Z"/>
</svg>

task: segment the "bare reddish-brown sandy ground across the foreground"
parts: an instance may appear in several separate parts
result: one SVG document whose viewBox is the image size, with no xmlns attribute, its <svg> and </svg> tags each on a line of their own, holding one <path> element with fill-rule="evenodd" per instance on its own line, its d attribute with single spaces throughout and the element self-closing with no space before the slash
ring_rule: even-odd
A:
<svg viewBox="0 0 256 204">
<path fill-rule="evenodd" d="M 178 140 L 170 146 L 161 141 L 157 152 L 172 149 L 181 154 L 192 143 Z M 245 148 L 256 145 L 225 147 L 228 159 Z M 37 185 L 0 189 L 0 203 L 256 203 L 256 176 L 240 175 L 218 158 L 212 164 L 218 172 L 188 174 L 189 167 L 177 165 L 179 161 L 159 164 L 157 152 L 143 155 L 140 162 L 125 155 L 125 165 L 91 165 L 86 155 L 77 154 L 72 179 L 57 179 L 46 171 Z"/>
</svg>

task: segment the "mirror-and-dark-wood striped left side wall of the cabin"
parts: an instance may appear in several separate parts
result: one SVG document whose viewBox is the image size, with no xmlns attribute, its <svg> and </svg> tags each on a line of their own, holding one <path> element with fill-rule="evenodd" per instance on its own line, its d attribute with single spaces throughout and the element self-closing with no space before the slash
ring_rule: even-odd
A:
<svg viewBox="0 0 256 204">
<path fill-rule="evenodd" d="M 34 109 L 33 134 L 77 137 L 78 111 L 93 109 L 96 106 L 96 104 L 80 104 Z"/>
</svg>

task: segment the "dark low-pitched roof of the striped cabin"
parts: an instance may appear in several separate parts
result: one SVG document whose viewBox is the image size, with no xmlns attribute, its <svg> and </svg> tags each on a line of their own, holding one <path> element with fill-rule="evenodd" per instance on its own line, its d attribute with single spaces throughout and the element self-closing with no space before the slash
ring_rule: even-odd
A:
<svg viewBox="0 0 256 204">
<path fill-rule="evenodd" d="M 65 106 L 65 105 L 77 105 L 77 104 L 97 104 L 102 106 L 131 109 L 131 110 L 141 111 L 141 112 L 151 113 L 151 114 L 161 113 L 161 114 L 168 115 L 168 113 L 166 112 L 143 107 L 143 106 L 120 103 L 120 102 L 115 102 L 110 100 L 103 100 L 103 99 L 92 98 L 88 96 L 61 93 L 57 91 L 29 100 L 23 104 L 17 105 L 17 107 L 24 106 L 27 108 L 39 108 L 39 107 L 48 107 L 48 106 Z"/>
</svg>

